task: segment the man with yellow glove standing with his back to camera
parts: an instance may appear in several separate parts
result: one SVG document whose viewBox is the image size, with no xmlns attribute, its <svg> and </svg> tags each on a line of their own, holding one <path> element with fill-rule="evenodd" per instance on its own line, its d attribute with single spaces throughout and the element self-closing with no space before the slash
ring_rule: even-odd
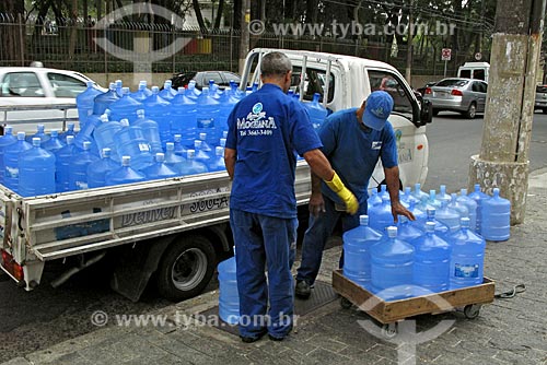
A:
<svg viewBox="0 0 547 365">
<path fill-rule="evenodd" d="M 244 342 L 257 341 L 266 333 L 271 340 L 282 340 L 293 327 L 296 154 L 336 192 L 348 212 L 354 213 L 359 207 L 321 152 L 321 140 L 305 108 L 286 95 L 292 74 L 289 58 L 269 52 L 260 71 L 263 87 L 237 103 L 228 119 L 224 150 L 226 170 L 233 179 L 230 225 Z"/>
</svg>

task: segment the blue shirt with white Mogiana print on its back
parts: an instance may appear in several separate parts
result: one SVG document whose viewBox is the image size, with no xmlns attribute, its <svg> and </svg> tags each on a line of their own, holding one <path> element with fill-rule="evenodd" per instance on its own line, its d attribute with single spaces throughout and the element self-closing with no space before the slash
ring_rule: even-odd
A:
<svg viewBox="0 0 547 365">
<path fill-rule="evenodd" d="M 322 146 L 305 107 L 275 84 L 237 103 L 228 118 L 226 148 L 236 150 L 230 208 L 296 216 L 296 153 Z"/>
</svg>

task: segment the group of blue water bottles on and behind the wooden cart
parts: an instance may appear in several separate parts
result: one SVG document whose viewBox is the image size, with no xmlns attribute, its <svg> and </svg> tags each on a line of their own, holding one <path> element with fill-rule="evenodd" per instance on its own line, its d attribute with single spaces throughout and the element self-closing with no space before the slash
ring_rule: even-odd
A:
<svg viewBox="0 0 547 365">
<path fill-rule="evenodd" d="M 486 239 L 510 235 L 510 202 L 493 189 L 426 193 L 417 184 L 400 201 L 416 221 L 395 225 L 385 186 L 369 198 L 369 215 L 344 234 L 344 275 L 385 301 L 457 290 L 482 283 Z"/>
</svg>

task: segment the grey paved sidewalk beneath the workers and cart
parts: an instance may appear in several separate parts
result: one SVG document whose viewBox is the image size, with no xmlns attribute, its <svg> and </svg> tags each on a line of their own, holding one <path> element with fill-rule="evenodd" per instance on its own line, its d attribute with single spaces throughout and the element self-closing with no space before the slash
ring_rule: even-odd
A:
<svg viewBox="0 0 547 365">
<path fill-rule="evenodd" d="M 298 319 L 282 342 L 263 340 L 244 344 L 226 331 L 194 321 L 166 326 L 108 325 L 47 350 L 16 357 L 3 365 L 28 364 L 547 364 L 547 169 L 531 176 L 525 224 L 511 229 L 504 243 L 488 243 L 485 274 L 497 293 L 525 284 L 510 299 L 496 299 L 476 319 L 458 311 L 416 318 L 421 333 L 454 323 L 433 340 L 416 346 L 398 337 L 377 338 L 361 325 L 370 317 L 339 301 Z M 325 251 L 318 280 L 330 282 L 340 247 Z M 175 318 L 218 305 L 218 292 L 172 305 L 155 313 Z M 116 314 L 109 314 L 114 317 Z M 123 314 L 119 314 L 123 315 Z M 361 321 L 361 325 L 358 322 Z M 412 322 L 407 320 L 405 322 Z M 437 327 L 435 327 L 437 326 Z"/>
</svg>

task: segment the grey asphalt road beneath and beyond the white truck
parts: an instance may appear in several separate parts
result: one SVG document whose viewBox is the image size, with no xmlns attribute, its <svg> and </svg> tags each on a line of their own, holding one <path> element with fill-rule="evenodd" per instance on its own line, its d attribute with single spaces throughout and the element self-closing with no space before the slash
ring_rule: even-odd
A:
<svg viewBox="0 0 547 365">
<path fill-rule="evenodd" d="M 449 191 L 467 185 L 469 157 L 480 150 L 482 119 L 468 120 L 456 114 L 441 114 L 428 127 L 429 176 L 424 189 L 445 184 Z M 547 167 L 547 115 L 536 114 L 531 142 L 531 169 Z M 55 343 L 91 332 L 95 310 L 108 314 L 142 314 L 171 303 L 148 290 L 132 303 L 109 289 L 109 268 L 97 264 L 58 289 L 49 282 L 67 268 L 46 264 L 43 283 L 33 292 L 15 287 L 0 274 L 0 363 Z M 212 282 L 209 290 L 217 287 Z"/>
</svg>

